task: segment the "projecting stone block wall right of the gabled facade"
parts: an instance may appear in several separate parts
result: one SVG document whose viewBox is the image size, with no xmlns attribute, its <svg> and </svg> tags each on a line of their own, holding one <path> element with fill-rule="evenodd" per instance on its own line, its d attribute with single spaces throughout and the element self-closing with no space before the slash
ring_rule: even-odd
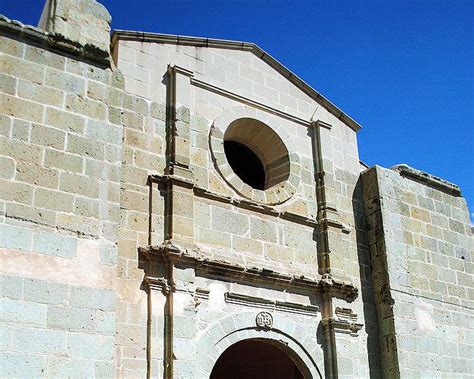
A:
<svg viewBox="0 0 474 379">
<path fill-rule="evenodd" d="M 459 188 L 408 166 L 362 175 L 385 373 L 473 374 L 473 239 Z"/>
</svg>

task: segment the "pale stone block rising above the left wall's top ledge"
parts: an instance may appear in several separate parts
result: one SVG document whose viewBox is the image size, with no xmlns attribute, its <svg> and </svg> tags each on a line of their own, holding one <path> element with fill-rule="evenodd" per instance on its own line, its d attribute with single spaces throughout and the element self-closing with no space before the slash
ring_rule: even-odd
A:
<svg viewBox="0 0 474 379">
<path fill-rule="evenodd" d="M 95 0 L 46 0 L 38 27 L 110 53 L 111 20 Z"/>
</svg>

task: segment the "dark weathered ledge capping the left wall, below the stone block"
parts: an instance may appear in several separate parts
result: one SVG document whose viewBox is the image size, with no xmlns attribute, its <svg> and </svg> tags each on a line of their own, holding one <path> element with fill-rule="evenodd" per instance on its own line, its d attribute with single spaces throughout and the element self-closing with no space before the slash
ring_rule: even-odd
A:
<svg viewBox="0 0 474 379">
<path fill-rule="evenodd" d="M 59 54 L 68 54 L 100 68 L 111 67 L 109 53 L 97 46 L 91 44 L 81 45 L 76 41 L 65 38 L 61 34 L 48 33 L 34 26 L 10 20 L 3 15 L 0 15 L 0 35 Z"/>
</svg>

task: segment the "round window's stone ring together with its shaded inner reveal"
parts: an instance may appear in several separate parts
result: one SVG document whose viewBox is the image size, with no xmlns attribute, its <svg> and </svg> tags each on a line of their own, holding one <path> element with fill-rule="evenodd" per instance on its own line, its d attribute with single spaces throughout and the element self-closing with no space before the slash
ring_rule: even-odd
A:
<svg viewBox="0 0 474 379">
<path fill-rule="evenodd" d="M 260 126 L 258 130 L 262 132 L 257 134 L 260 134 L 264 140 L 272 138 L 279 147 L 279 153 L 274 157 L 275 159 L 272 159 L 272 157 L 270 159 L 264 157 L 263 159 L 268 163 L 268 170 L 275 174 L 272 175 L 275 180 L 270 180 L 267 183 L 268 188 L 264 190 L 252 188 L 244 183 L 234 173 L 224 151 L 226 133 L 232 134 L 233 131 L 231 129 L 235 130 L 236 124 L 242 120 L 245 120 L 249 127 L 258 128 Z M 235 137 L 236 135 L 233 136 L 233 139 Z M 248 143 L 243 139 L 239 142 L 243 142 L 246 145 L 255 144 L 255 140 L 250 141 L 251 139 L 249 138 Z M 248 106 L 227 108 L 214 120 L 211 126 L 209 144 L 217 171 L 227 184 L 241 196 L 259 203 L 281 204 L 296 193 L 300 183 L 300 159 L 296 153 L 298 149 L 294 146 L 290 135 L 279 124 L 275 116 Z M 286 156 L 280 156 L 282 151 L 287 152 Z M 262 151 L 261 153 L 264 155 L 265 152 Z"/>
</svg>

